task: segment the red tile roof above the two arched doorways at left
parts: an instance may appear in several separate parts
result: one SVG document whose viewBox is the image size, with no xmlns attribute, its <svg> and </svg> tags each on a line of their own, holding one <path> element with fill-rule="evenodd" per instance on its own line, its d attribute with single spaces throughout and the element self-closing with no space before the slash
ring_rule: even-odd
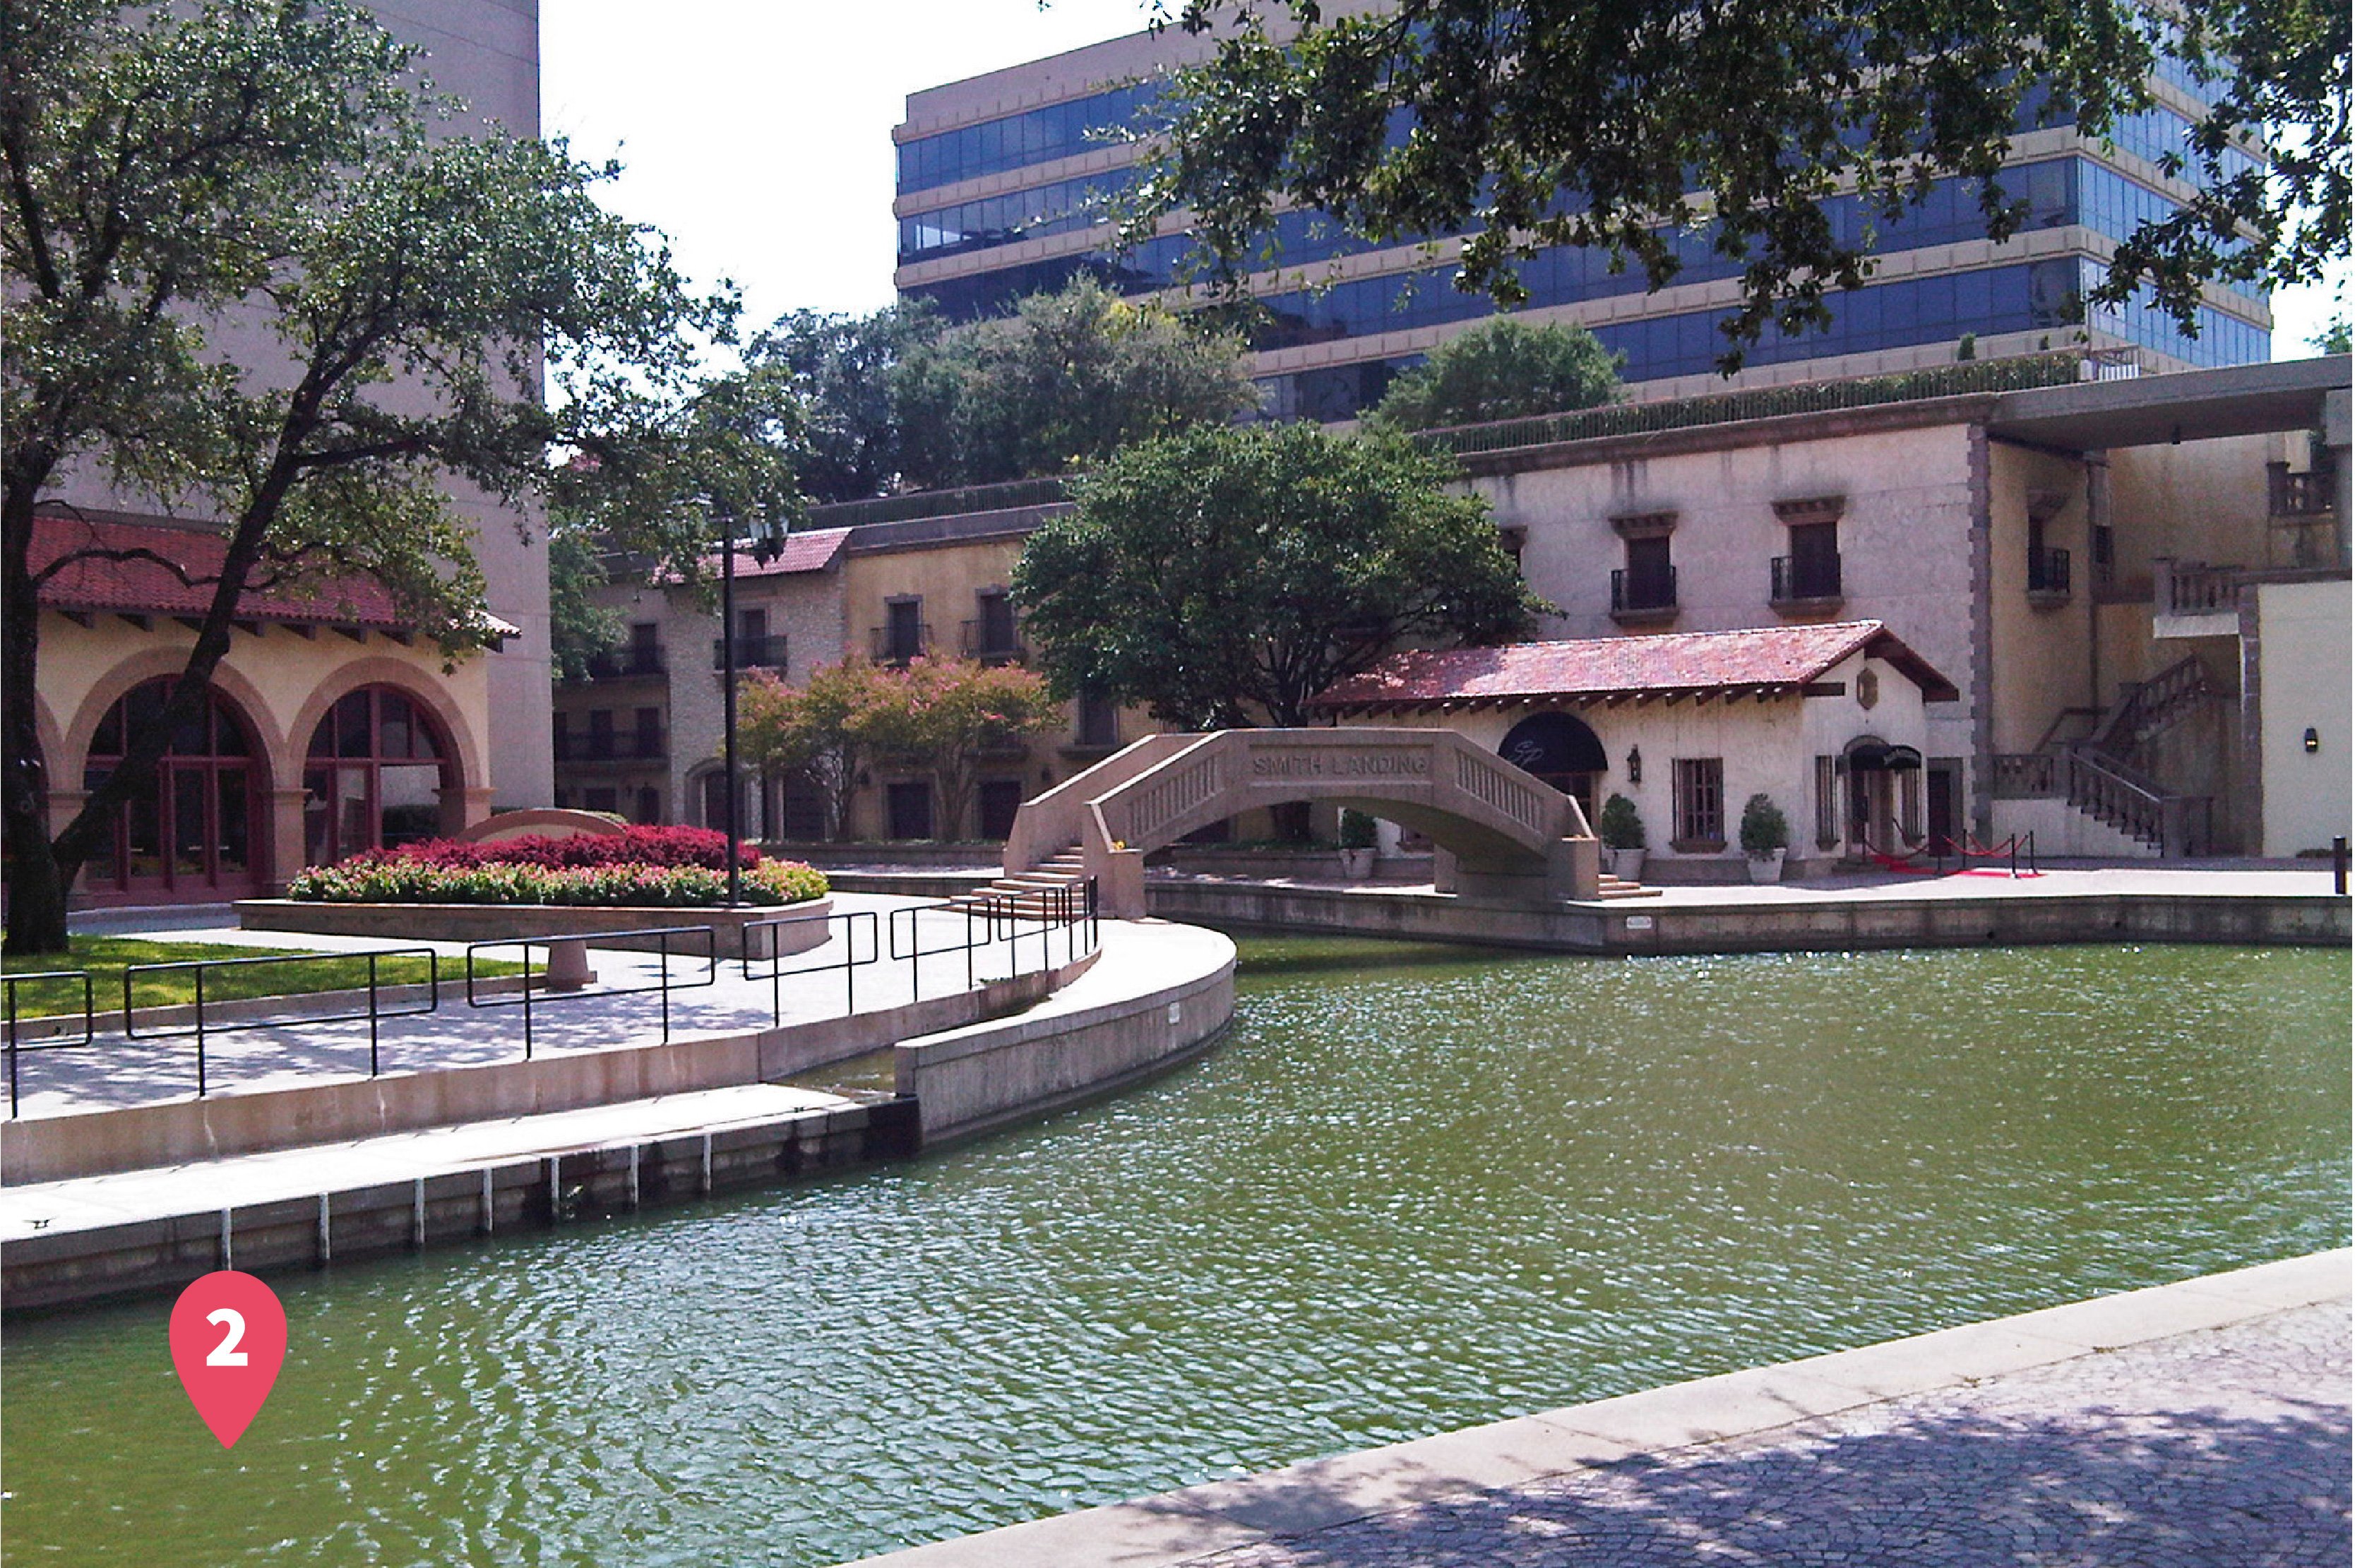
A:
<svg viewBox="0 0 2355 1568">
<path fill-rule="evenodd" d="M 85 556 L 68 560 L 57 577 L 40 584 L 40 603 L 45 607 L 125 614 L 205 614 L 212 607 L 212 579 L 219 577 L 221 560 L 228 556 L 228 539 L 203 527 L 167 523 L 33 518 L 28 565 L 35 574 L 85 549 L 148 551 L 155 558 L 120 560 Z M 179 572 L 172 567 L 179 567 Z M 181 574 L 193 582 L 181 582 Z M 238 619 L 379 626 L 386 631 L 407 626 L 384 584 L 360 574 L 311 582 L 301 589 L 250 591 L 238 598 Z"/>
</svg>

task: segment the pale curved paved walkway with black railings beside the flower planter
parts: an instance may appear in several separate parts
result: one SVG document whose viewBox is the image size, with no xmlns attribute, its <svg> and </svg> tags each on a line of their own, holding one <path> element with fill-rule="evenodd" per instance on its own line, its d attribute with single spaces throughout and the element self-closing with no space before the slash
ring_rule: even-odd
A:
<svg viewBox="0 0 2355 1568">
<path fill-rule="evenodd" d="M 768 979 L 744 979 L 742 968 L 721 961 L 714 984 L 702 982 L 706 965 L 702 958 L 671 958 L 674 982 L 688 989 L 671 991 L 671 1038 L 690 1034 L 721 1034 L 770 1029 L 772 1024 L 801 1024 L 827 1017 L 843 1017 L 850 1010 L 853 991 L 843 982 L 838 965 L 848 944 L 857 956 L 876 951 L 883 921 L 893 909 L 928 904 L 930 899 L 907 899 L 890 895 L 836 895 L 836 913 L 874 911 L 876 923 L 860 923 L 857 932 L 845 932 L 836 923 L 836 935 L 827 946 L 808 954 L 789 954 L 789 970 L 815 970 L 787 975 L 775 989 Z M 692 925 L 695 911 L 678 911 L 683 925 Z M 966 918 L 954 913 L 923 913 L 921 944 L 926 949 L 961 946 Z M 909 923 L 900 921 L 900 939 L 907 942 Z M 497 996 L 499 1005 L 473 1008 L 466 1003 L 466 972 L 462 942 L 384 942 L 374 937 L 330 937 L 285 930 L 238 930 L 186 928 L 186 925 L 111 925 L 108 935 L 137 937 L 158 935 L 172 942 L 217 942 L 228 946 L 287 946 L 313 951 L 370 951 L 386 946 L 431 946 L 440 954 L 440 1005 L 433 1012 L 384 1019 L 379 1024 L 379 1062 L 384 1071 L 419 1071 L 431 1067 L 466 1067 L 478 1062 L 509 1062 L 523 1055 L 523 1008 L 516 996 Z M 949 996 L 968 989 L 963 951 L 930 954 L 921 963 L 890 958 L 890 937 L 881 937 L 883 956 L 862 963 L 855 977 L 855 1001 L 862 1012 L 914 1001 L 918 996 Z M 1064 932 L 1048 932 L 1048 958 L 1064 961 Z M 513 946 L 485 951 L 492 961 L 518 961 Z M 544 963 L 544 954 L 535 958 Z M 994 979 L 1013 968 L 1036 970 L 1041 965 L 1039 930 L 1024 925 L 1015 939 L 977 946 L 973 975 Z M 532 1052 L 563 1055 L 577 1050 L 608 1050 L 612 1045 L 643 1045 L 662 1038 L 662 998 L 641 994 L 608 994 L 648 986 L 662 970 L 655 954 L 591 949 L 591 968 L 598 972 L 596 994 L 549 998 L 532 1005 Z M 765 975 L 765 965 L 756 965 Z M 205 1071 L 210 1092 L 252 1092 L 290 1088 L 320 1078 L 367 1076 L 367 1024 L 304 1024 L 304 1012 L 323 1005 L 349 1010 L 351 1003 L 313 1003 L 285 998 L 285 1010 L 273 1008 L 273 1017 L 290 1019 L 290 1026 L 240 1026 L 212 1034 L 205 1041 Z M 400 1003 L 403 1008 L 417 1003 Z M 118 1109 L 130 1104 L 155 1104 L 186 1099 L 195 1092 L 195 1038 L 186 1029 L 160 1034 L 158 1038 L 122 1038 L 120 996 L 108 1017 L 106 998 L 99 998 L 101 1038 L 89 1048 L 33 1048 L 19 1059 L 21 1116 L 66 1116 L 80 1111 Z"/>
</svg>

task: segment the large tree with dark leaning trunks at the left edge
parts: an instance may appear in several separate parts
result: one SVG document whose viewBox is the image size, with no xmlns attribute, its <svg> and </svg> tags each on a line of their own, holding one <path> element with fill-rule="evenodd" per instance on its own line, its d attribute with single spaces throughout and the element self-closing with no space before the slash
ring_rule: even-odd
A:
<svg viewBox="0 0 2355 1568">
<path fill-rule="evenodd" d="M 666 252 L 598 207 L 601 170 L 438 134 L 443 106 L 410 66 L 334 0 L 0 7 L 9 951 L 66 946 L 66 890 L 200 711 L 247 589 L 365 572 L 452 657 L 480 645 L 492 626 L 450 485 L 518 501 L 546 487 L 551 440 L 608 417 L 659 436 L 697 334 L 728 330 L 728 301 L 690 299 Z M 224 311 L 273 332 L 283 360 L 217 348 Z M 570 393 L 558 414 L 544 370 Z M 73 464 L 219 518 L 226 551 L 162 723 L 52 838 L 40 582 L 111 553 L 33 570 L 35 506 Z"/>
</svg>

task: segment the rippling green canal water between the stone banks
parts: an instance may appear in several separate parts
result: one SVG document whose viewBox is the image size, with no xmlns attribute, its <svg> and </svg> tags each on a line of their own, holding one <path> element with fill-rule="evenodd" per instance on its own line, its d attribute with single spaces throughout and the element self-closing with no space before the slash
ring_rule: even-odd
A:
<svg viewBox="0 0 2355 1568">
<path fill-rule="evenodd" d="M 9 1563 L 831 1563 L 2348 1241 L 2348 954 L 1248 942 L 1234 1034 L 890 1170 L 12 1323 Z"/>
</svg>

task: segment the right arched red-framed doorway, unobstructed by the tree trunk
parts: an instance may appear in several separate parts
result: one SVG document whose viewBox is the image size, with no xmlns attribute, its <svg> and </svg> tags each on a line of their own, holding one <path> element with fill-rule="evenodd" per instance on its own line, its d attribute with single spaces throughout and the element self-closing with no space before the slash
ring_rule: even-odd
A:
<svg viewBox="0 0 2355 1568">
<path fill-rule="evenodd" d="M 304 758 L 301 838 L 313 866 L 436 838 L 455 784 L 450 742 L 426 704 L 391 685 L 337 697 Z"/>
</svg>

